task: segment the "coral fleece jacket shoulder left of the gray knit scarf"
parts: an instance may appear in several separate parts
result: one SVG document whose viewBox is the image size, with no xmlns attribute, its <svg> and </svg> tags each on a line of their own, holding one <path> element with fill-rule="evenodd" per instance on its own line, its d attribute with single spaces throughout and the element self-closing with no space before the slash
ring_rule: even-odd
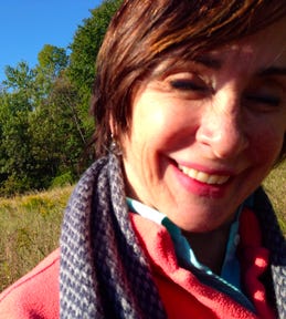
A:
<svg viewBox="0 0 286 319">
<path fill-rule="evenodd" d="M 0 295 L 0 319 L 59 318 L 60 249 Z"/>
</svg>

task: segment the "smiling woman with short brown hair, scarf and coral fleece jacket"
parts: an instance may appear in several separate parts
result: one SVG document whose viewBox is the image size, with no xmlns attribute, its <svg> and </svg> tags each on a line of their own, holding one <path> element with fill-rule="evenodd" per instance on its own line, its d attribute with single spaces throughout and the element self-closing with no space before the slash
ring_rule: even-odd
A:
<svg viewBox="0 0 286 319">
<path fill-rule="evenodd" d="M 2 292 L 3 318 L 285 318 L 285 239 L 259 187 L 286 150 L 286 8 L 269 2 L 124 1 L 61 265 L 56 250 Z"/>
</svg>

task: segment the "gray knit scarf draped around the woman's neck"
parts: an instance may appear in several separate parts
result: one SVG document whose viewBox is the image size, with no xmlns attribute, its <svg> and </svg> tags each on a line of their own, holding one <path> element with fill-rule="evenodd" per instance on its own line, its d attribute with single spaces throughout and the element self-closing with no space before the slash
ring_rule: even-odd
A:
<svg viewBox="0 0 286 319">
<path fill-rule="evenodd" d="M 272 228 L 265 241 L 273 251 L 267 285 L 275 287 L 280 318 L 286 318 L 285 240 L 264 193 L 256 202 L 263 225 Z M 87 169 L 66 208 L 60 302 L 62 319 L 167 318 L 128 218 L 120 163 L 113 154 Z"/>
</svg>

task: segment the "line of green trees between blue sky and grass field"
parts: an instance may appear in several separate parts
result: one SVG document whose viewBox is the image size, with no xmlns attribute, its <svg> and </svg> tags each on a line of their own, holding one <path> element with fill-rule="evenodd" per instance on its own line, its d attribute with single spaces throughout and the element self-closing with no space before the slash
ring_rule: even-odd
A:
<svg viewBox="0 0 286 319">
<path fill-rule="evenodd" d="M 95 60 L 120 0 L 91 10 L 68 48 L 6 68 L 0 83 L 0 196 L 73 183 L 93 161 L 88 116 Z"/>
</svg>

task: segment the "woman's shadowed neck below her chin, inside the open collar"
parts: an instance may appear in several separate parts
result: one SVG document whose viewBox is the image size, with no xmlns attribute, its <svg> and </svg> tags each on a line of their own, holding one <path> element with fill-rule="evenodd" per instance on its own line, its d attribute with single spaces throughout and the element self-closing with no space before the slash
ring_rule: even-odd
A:
<svg viewBox="0 0 286 319">
<path fill-rule="evenodd" d="M 226 245 L 229 240 L 230 224 L 208 233 L 183 231 L 197 259 L 208 266 L 213 272 L 220 275 Z"/>
</svg>

